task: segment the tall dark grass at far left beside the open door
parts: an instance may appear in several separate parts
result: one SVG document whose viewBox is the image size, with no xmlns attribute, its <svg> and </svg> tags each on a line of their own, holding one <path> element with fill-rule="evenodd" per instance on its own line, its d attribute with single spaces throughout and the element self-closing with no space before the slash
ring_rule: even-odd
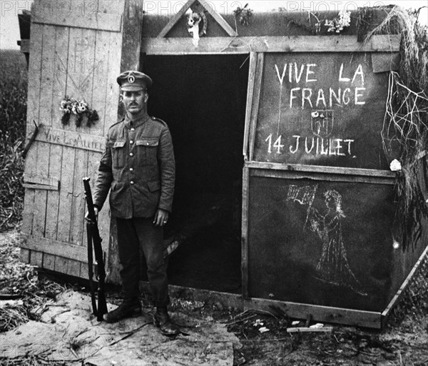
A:
<svg viewBox="0 0 428 366">
<path fill-rule="evenodd" d="M 26 93 L 24 54 L 0 50 L 0 231 L 22 218 Z"/>
</svg>

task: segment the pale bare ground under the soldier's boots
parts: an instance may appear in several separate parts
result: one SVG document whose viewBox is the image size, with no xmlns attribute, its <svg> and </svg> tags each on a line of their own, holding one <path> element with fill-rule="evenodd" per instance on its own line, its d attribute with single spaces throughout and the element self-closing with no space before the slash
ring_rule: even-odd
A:
<svg viewBox="0 0 428 366">
<path fill-rule="evenodd" d="M 232 366 L 233 349 L 240 347 L 238 338 L 213 320 L 173 312 L 170 315 L 183 334 L 165 337 L 153 325 L 151 312 L 108 324 L 96 321 L 90 304 L 87 295 L 67 290 L 55 303 L 46 304 L 41 321 L 2 333 L 0 356 L 37 356 L 48 362 L 97 366 Z"/>
</svg>

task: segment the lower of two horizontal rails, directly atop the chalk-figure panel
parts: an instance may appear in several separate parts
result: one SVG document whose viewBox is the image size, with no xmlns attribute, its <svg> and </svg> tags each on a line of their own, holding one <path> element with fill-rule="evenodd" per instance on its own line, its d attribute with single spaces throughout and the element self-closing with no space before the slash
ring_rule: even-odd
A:
<svg viewBox="0 0 428 366">
<path fill-rule="evenodd" d="M 312 179 L 315 181 L 350 182 L 350 183 L 372 183 L 372 184 L 395 184 L 395 178 L 384 178 L 374 176 L 347 176 L 345 174 L 329 173 L 306 173 L 297 171 L 273 171 L 270 169 L 252 169 L 251 176 L 269 177 L 279 179 Z"/>
</svg>

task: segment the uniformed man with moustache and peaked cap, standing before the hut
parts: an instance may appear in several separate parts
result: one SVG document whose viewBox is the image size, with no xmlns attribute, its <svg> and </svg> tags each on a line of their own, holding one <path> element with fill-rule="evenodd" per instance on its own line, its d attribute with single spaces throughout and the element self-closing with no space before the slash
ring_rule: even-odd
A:
<svg viewBox="0 0 428 366">
<path fill-rule="evenodd" d="M 109 202 L 116 218 L 124 299 L 116 310 L 104 315 L 104 320 L 117 322 L 141 313 L 141 248 L 156 306 L 154 323 L 164 335 L 176 335 L 180 330 L 167 312 L 168 279 L 163 258 L 163 226 L 171 212 L 175 182 L 173 143 L 166 123 L 147 114 L 151 78 L 138 71 L 125 71 L 117 81 L 126 116 L 108 130 L 93 203 L 98 215 L 111 190 Z"/>
</svg>

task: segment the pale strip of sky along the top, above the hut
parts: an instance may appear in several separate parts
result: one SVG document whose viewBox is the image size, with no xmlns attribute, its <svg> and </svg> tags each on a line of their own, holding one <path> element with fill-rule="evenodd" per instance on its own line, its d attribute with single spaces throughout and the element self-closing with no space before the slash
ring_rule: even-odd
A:
<svg viewBox="0 0 428 366">
<path fill-rule="evenodd" d="M 46 0 L 50 2 L 57 1 L 58 3 L 67 3 L 68 1 L 82 1 L 82 0 Z M 86 0 L 90 1 L 90 0 Z M 94 0 L 95 1 L 95 0 Z M 102 1 L 102 0 L 101 0 Z M 177 12 L 181 6 L 185 4 L 185 0 L 144 0 L 144 9 L 149 14 L 170 15 Z M 397 4 L 406 9 L 419 9 L 422 6 L 427 6 L 427 0 L 413 1 L 413 0 L 385 0 L 385 1 L 372 1 L 372 0 L 356 0 L 356 1 L 271 1 L 271 0 L 209 0 L 215 9 L 221 14 L 230 14 L 238 6 L 243 7 L 249 4 L 248 7 L 253 11 L 275 11 L 282 8 L 282 11 L 324 11 L 324 10 L 337 10 L 347 9 L 355 10 L 357 7 L 362 6 L 382 6 L 388 4 Z M 31 10 L 33 0 L 0 0 L 0 49 L 19 49 L 16 41 L 21 39 L 19 35 L 18 14 L 22 13 L 24 9 Z M 419 16 L 419 20 L 427 24 L 428 22 L 428 9 L 423 9 Z"/>
</svg>

